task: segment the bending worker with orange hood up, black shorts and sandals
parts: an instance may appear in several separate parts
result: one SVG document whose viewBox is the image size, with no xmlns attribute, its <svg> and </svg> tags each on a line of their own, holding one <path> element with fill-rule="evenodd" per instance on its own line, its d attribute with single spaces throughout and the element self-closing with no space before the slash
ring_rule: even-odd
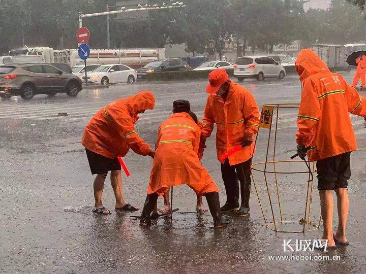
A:
<svg viewBox="0 0 366 274">
<path fill-rule="evenodd" d="M 138 114 L 152 110 L 155 97 L 151 91 L 141 91 L 134 96 L 118 99 L 102 108 L 86 125 L 82 138 L 94 180 L 95 207 L 93 212 L 111 214 L 103 206 L 102 193 L 108 172 L 116 198 L 115 210 L 136 211 L 126 203 L 122 194 L 121 166 L 117 157 L 124 157 L 131 148 L 135 153 L 154 158 L 154 150 L 135 131 Z"/>
</svg>

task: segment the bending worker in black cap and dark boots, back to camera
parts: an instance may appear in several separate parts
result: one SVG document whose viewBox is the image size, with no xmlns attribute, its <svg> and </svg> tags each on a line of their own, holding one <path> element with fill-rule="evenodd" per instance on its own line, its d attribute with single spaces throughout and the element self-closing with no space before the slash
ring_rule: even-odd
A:
<svg viewBox="0 0 366 274">
<path fill-rule="evenodd" d="M 140 225 L 150 224 L 151 212 L 156 208 L 159 196 L 163 196 L 171 186 L 186 184 L 199 196 L 206 197 L 214 226 L 220 228 L 224 224 L 221 220 L 219 189 L 197 154 L 201 130 L 189 114 L 188 101 L 174 101 L 173 105 L 174 114 L 159 127 L 156 155 Z"/>
</svg>

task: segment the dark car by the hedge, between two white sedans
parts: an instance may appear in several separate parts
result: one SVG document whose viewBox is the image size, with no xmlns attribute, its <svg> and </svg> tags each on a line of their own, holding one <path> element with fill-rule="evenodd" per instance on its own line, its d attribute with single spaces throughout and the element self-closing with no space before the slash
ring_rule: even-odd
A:
<svg viewBox="0 0 366 274">
<path fill-rule="evenodd" d="M 137 79 L 145 78 L 148 73 L 151 72 L 175 72 L 175 71 L 187 71 L 191 70 L 191 67 L 185 61 L 179 59 L 164 59 L 155 60 L 148 63 L 143 68 L 137 70 Z"/>
</svg>

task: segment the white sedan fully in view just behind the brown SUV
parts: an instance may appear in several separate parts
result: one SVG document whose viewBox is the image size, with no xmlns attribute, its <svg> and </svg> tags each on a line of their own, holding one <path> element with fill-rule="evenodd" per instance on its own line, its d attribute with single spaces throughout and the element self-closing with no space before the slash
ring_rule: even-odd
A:
<svg viewBox="0 0 366 274">
<path fill-rule="evenodd" d="M 85 81 L 85 76 L 82 77 Z M 123 64 L 101 65 L 91 73 L 87 74 L 88 83 L 100 83 L 109 85 L 110 83 L 129 83 L 132 84 L 137 79 L 136 71 Z"/>
</svg>

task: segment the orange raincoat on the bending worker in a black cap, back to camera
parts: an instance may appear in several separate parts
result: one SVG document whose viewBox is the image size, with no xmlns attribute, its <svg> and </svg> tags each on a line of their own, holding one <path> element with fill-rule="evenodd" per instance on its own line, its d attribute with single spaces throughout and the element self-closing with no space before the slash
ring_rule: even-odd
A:
<svg viewBox="0 0 366 274">
<path fill-rule="evenodd" d="M 199 126 L 187 113 L 173 114 L 160 125 L 147 194 L 163 196 L 169 187 L 181 184 L 200 196 L 219 192 L 198 159 L 200 135 Z"/>
</svg>

